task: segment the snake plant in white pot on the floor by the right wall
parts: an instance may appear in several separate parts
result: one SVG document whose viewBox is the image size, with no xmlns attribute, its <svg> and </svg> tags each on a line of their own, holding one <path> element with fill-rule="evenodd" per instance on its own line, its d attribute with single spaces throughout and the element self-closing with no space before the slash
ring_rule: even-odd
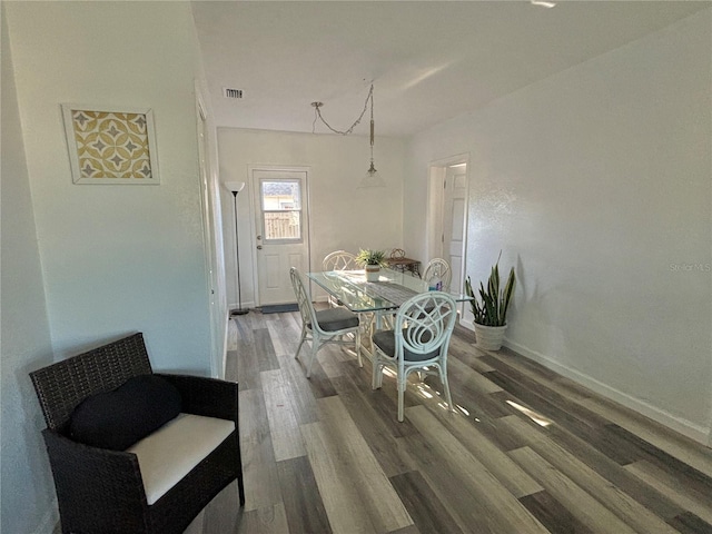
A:
<svg viewBox="0 0 712 534">
<path fill-rule="evenodd" d="M 502 257 L 502 253 L 500 253 Z M 475 336 L 477 346 L 487 350 L 498 350 L 502 347 L 504 332 L 507 327 L 507 310 L 512 301 L 512 294 L 516 285 L 514 267 L 510 269 L 510 276 L 503 289 L 500 289 L 500 258 L 492 267 L 487 288 L 479 283 L 478 296 L 475 295 L 469 277 L 465 279 L 465 291 L 472 300 L 472 313 L 475 316 Z"/>
</svg>

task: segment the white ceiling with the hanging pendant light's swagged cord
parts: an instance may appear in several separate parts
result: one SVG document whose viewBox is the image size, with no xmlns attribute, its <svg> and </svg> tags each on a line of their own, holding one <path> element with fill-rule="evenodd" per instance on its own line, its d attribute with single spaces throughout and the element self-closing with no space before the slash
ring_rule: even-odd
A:
<svg viewBox="0 0 712 534">
<path fill-rule="evenodd" d="M 376 134 L 408 136 L 710 6 L 195 1 L 192 11 L 217 126 L 313 131 L 319 100 L 345 130 L 373 81 Z M 226 99 L 226 87 L 243 99 Z M 367 135 L 368 116 L 354 132 Z"/>
</svg>

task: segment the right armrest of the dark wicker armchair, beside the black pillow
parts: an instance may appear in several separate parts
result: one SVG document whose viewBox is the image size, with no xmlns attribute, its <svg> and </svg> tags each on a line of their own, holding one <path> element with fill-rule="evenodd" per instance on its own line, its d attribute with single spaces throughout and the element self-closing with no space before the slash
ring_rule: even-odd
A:
<svg viewBox="0 0 712 534">
<path fill-rule="evenodd" d="M 234 382 L 204 376 L 155 373 L 180 392 L 181 412 L 234 421 L 237 427 L 238 387 Z"/>
</svg>

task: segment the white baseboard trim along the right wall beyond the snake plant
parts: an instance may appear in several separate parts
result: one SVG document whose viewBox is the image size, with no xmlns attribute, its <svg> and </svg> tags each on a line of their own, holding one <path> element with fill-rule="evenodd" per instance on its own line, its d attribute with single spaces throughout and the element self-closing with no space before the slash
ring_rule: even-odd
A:
<svg viewBox="0 0 712 534">
<path fill-rule="evenodd" d="M 644 415 L 645 417 L 650 417 L 651 419 L 660 423 L 661 425 L 665 425 L 673 431 L 694 439 L 695 442 L 701 443 L 702 445 L 708 445 L 710 439 L 710 428 L 705 428 L 702 425 L 696 425 L 691 421 L 684 419 L 682 417 L 676 417 L 663 409 L 660 409 L 649 403 L 645 403 L 639 398 L 632 397 L 631 395 L 623 393 L 614 387 L 609 386 L 589 375 L 585 375 L 576 369 L 572 369 L 565 365 L 562 365 L 553 359 L 540 354 L 535 350 L 530 350 L 524 345 L 513 342 L 505 337 L 504 346 L 515 350 L 517 354 L 530 358 L 544 367 L 558 373 L 566 378 L 571 378 L 572 380 L 587 387 L 589 389 L 603 395 L 616 403 L 625 406 L 626 408 L 633 409 L 639 414 Z"/>
</svg>

